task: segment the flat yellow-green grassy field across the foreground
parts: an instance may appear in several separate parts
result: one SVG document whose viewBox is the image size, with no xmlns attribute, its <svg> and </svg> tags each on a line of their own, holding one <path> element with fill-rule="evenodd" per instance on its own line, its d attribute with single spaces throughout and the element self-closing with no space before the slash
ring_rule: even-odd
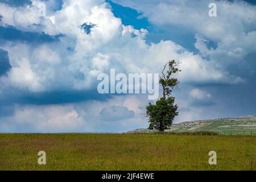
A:
<svg viewBox="0 0 256 182">
<path fill-rule="evenodd" d="M 256 170 L 256 137 L 0 134 L 0 170 Z"/>
</svg>

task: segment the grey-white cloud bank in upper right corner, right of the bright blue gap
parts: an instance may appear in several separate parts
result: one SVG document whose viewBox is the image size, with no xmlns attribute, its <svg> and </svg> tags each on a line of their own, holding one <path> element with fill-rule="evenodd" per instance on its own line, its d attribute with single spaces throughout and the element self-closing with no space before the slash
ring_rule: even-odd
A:
<svg viewBox="0 0 256 182">
<path fill-rule="evenodd" d="M 217 17 L 208 15 L 212 1 L 122 1 L 114 0 L 143 13 L 143 16 L 164 30 L 173 26 L 185 27 L 195 35 L 195 47 L 200 55 L 207 57 L 214 68 L 229 72 L 233 82 L 245 82 L 244 70 L 250 74 L 254 69 L 248 66 L 253 61 L 246 55 L 255 52 L 256 7 L 245 1 L 213 1 L 217 5 Z M 170 35 L 171 36 L 171 35 Z M 209 48 L 213 42 L 215 48 Z M 241 64 L 241 61 L 242 64 Z M 242 68 L 241 68 L 242 67 Z M 234 71 L 235 70 L 235 71 Z M 242 71 L 243 70 L 243 71 Z"/>
</svg>

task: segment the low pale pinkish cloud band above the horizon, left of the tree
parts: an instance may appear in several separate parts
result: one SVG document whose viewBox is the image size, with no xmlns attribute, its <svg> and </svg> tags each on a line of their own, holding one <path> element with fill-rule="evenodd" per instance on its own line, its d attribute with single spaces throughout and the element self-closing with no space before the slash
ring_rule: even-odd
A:
<svg viewBox="0 0 256 182">
<path fill-rule="evenodd" d="M 146 97 L 145 97 L 146 98 Z M 116 96 L 106 101 L 64 105 L 15 105 L 2 117 L 1 132 L 125 132 L 147 127 L 145 98 Z"/>
</svg>

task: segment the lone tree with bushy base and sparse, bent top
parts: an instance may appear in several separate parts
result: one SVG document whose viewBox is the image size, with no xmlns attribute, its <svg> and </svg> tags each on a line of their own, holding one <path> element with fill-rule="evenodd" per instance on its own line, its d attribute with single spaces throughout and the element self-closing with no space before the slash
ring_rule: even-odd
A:
<svg viewBox="0 0 256 182">
<path fill-rule="evenodd" d="M 174 104 L 175 97 L 171 96 L 172 90 L 179 85 L 177 78 L 171 77 L 173 73 L 180 72 L 180 69 L 177 68 L 179 64 L 179 61 L 172 60 L 164 65 L 162 76 L 159 78 L 159 84 L 163 88 L 163 97 L 154 105 L 149 103 L 146 107 L 146 116 L 150 123 L 148 129 L 150 130 L 164 131 L 170 129 L 172 121 L 179 114 L 177 105 Z"/>
</svg>

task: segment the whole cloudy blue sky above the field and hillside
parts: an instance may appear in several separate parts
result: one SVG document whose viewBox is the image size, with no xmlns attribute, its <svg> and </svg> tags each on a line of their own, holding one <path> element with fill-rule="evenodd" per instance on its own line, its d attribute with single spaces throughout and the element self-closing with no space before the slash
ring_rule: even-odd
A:
<svg viewBox="0 0 256 182">
<path fill-rule="evenodd" d="M 100 94 L 97 76 L 160 73 L 173 59 L 174 123 L 255 115 L 255 40 L 249 0 L 0 0 L 0 133 L 146 128 L 154 101 Z"/>
</svg>

